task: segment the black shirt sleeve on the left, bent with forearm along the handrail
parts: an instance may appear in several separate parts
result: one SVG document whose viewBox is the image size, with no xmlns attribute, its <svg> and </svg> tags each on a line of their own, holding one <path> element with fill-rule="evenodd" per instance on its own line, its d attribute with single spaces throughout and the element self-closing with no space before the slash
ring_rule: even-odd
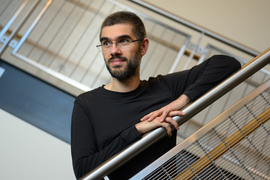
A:
<svg viewBox="0 0 270 180">
<path fill-rule="evenodd" d="M 135 126 L 131 126 L 108 146 L 99 149 L 89 114 L 75 101 L 71 121 L 71 153 L 76 178 L 87 174 L 140 138 Z"/>
</svg>

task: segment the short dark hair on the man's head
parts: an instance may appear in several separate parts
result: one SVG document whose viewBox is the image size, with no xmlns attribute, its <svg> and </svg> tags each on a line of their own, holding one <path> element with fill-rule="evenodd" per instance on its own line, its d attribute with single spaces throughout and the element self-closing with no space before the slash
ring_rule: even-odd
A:
<svg viewBox="0 0 270 180">
<path fill-rule="evenodd" d="M 119 11 L 109 15 L 101 25 L 99 38 L 101 38 L 101 33 L 105 26 L 116 24 L 131 24 L 133 26 L 132 32 L 137 39 L 146 38 L 146 31 L 142 20 L 136 14 L 129 11 Z"/>
</svg>

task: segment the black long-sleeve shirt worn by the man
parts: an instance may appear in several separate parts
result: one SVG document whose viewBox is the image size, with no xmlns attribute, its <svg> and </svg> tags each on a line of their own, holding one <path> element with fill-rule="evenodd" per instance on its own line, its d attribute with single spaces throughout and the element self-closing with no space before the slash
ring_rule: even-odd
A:
<svg viewBox="0 0 270 180">
<path fill-rule="evenodd" d="M 149 78 L 131 92 L 106 90 L 103 86 L 78 96 L 71 125 L 73 168 L 77 178 L 90 172 L 141 138 L 135 124 L 186 94 L 196 100 L 240 68 L 234 58 L 218 55 L 190 70 Z M 176 144 L 176 131 L 145 150 L 109 175 L 128 179 L 169 151 Z"/>
</svg>

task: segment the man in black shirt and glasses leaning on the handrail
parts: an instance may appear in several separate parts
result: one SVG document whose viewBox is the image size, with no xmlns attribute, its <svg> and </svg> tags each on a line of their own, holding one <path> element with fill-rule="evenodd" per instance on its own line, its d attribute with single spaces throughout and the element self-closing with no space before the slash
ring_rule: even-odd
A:
<svg viewBox="0 0 270 180">
<path fill-rule="evenodd" d="M 73 168 L 77 178 L 157 127 L 168 137 L 136 156 L 110 179 L 128 179 L 176 144 L 178 129 L 172 116 L 184 115 L 180 108 L 194 101 L 240 68 L 227 56 L 214 56 L 188 71 L 140 80 L 141 58 L 149 40 L 135 14 L 116 12 L 108 16 L 100 31 L 102 54 L 112 82 L 81 94 L 74 102 L 71 127 Z"/>
</svg>

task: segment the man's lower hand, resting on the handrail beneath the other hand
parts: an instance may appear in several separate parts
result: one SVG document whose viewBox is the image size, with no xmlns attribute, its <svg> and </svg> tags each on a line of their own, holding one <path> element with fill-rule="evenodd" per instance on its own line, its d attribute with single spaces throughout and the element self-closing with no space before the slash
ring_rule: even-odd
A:
<svg viewBox="0 0 270 180">
<path fill-rule="evenodd" d="M 171 116 L 178 116 L 179 111 L 173 111 L 170 113 Z M 157 127 L 164 127 L 167 131 L 168 136 L 172 136 L 172 129 L 170 127 L 172 124 L 175 129 L 179 129 L 177 122 L 171 117 L 166 117 L 164 122 L 160 122 L 160 117 L 155 118 L 152 121 L 142 121 L 135 125 L 140 134 L 144 134 L 148 131 L 156 129 Z"/>
</svg>

